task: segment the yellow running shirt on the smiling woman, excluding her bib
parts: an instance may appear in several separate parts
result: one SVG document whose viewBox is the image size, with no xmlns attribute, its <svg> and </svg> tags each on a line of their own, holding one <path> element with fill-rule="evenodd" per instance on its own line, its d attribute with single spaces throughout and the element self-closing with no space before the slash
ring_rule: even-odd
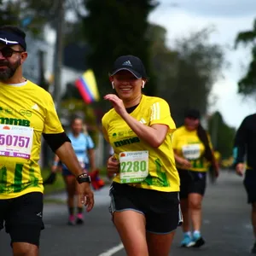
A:
<svg viewBox="0 0 256 256">
<path fill-rule="evenodd" d="M 130 114 L 144 125 L 168 125 L 169 131 L 164 143 L 159 148 L 152 148 L 137 137 L 114 109 L 103 116 L 104 136 L 113 147 L 117 159 L 119 154 L 122 156 L 125 152 L 139 154 L 148 151 L 148 176 L 140 183 L 129 184 L 143 189 L 179 191 L 179 177 L 172 151 L 172 132 L 176 126 L 168 103 L 158 97 L 143 96 L 140 104 Z M 114 177 L 113 181 L 120 183 L 120 174 Z"/>
</svg>

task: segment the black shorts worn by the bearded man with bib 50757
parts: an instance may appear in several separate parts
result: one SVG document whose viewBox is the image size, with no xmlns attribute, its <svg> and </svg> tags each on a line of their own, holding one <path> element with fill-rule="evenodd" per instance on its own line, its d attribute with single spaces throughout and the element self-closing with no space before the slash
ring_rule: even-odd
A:
<svg viewBox="0 0 256 256">
<path fill-rule="evenodd" d="M 43 194 L 32 192 L 14 199 L 0 200 L 0 230 L 5 230 L 13 242 L 39 246 L 43 223 Z"/>
</svg>

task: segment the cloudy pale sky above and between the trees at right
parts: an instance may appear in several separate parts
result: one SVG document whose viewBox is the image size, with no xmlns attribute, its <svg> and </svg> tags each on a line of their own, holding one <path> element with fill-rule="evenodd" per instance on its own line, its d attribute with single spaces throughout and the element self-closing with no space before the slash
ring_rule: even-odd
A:
<svg viewBox="0 0 256 256">
<path fill-rule="evenodd" d="M 213 86 L 212 95 L 218 97 L 218 102 L 209 112 L 219 110 L 224 120 L 235 127 L 247 114 L 256 112 L 256 99 L 254 102 L 237 95 L 237 81 L 251 59 L 250 48 L 233 49 L 237 32 L 251 30 L 254 18 L 256 0 L 161 0 L 160 6 L 149 15 L 151 22 L 166 27 L 170 47 L 177 38 L 207 26 L 215 27 L 212 43 L 230 46 L 225 51 L 230 68 L 224 70 L 224 79 Z"/>
</svg>

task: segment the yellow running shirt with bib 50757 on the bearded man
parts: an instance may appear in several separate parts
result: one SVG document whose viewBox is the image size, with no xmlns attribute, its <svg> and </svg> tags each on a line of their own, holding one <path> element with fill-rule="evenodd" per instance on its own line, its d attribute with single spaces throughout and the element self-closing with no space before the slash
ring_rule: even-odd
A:
<svg viewBox="0 0 256 256">
<path fill-rule="evenodd" d="M 49 93 L 30 81 L 0 83 L 0 200 L 44 192 L 42 133 L 63 132 Z"/>
</svg>

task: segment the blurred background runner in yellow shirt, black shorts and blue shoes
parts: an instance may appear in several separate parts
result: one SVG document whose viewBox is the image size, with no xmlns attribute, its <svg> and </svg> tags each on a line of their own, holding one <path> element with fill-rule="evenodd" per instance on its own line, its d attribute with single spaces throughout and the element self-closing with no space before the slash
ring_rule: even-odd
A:
<svg viewBox="0 0 256 256">
<path fill-rule="evenodd" d="M 185 114 L 184 125 L 174 132 L 172 148 L 177 162 L 181 187 L 183 212 L 183 247 L 201 247 L 205 241 L 201 236 L 201 201 L 207 183 L 208 162 L 214 166 L 218 177 L 218 165 L 214 159 L 207 131 L 200 123 L 200 113 L 191 109 Z M 190 233 L 190 218 L 193 236 Z"/>
</svg>

